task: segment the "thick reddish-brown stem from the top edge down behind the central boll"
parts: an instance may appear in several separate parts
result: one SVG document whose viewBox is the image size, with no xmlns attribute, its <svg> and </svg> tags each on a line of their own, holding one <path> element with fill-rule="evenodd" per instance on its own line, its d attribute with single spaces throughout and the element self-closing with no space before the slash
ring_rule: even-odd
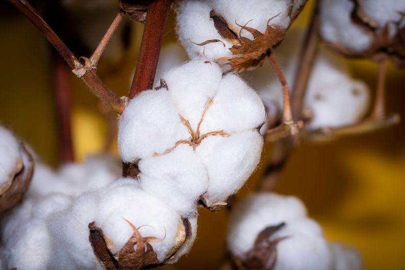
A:
<svg viewBox="0 0 405 270">
<path fill-rule="evenodd" d="M 169 8 L 170 0 L 155 0 L 149 4 L 130 99 L 153 87 Z"/>
</svg>

